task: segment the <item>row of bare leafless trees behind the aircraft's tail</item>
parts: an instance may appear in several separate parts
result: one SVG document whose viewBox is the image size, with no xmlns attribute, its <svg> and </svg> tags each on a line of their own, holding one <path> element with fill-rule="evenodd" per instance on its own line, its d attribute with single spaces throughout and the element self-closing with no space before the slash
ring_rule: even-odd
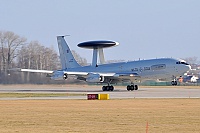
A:
<svg viewBox="0 0 200 133">
<path fill-rule="evenodd" d="M 87 60 L 72 50 L 75 59 L 81 65 Z M 59 55 L 53 48 L 45 47 L 38 41 L 27 42 L 11 31 L 0 31 L 0 83 L 63 83 L 52 81 L 41 73 L 11 72 L 12 68 L 41 70 L 61 69 Z"/>
</svg>

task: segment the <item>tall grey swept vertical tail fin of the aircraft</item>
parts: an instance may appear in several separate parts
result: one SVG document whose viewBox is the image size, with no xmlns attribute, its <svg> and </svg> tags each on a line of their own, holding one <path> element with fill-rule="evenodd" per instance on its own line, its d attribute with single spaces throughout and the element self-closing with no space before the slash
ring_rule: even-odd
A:
<svg viewBox="0 0 200 133">
<path fill-rule="evenodd" d="M 74 56 L 72 55 L 72 52 L 67 45 L 64 36 L 57 36 L 57 41 L 62 69 L 80 67 L 80 65 L 74 59 Z"/>
</svg>

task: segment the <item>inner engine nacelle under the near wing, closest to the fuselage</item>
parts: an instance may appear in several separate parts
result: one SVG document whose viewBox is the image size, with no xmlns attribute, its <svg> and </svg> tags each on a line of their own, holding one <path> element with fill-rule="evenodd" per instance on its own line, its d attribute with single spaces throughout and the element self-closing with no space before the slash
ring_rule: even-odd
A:
<svg viewBox="0 0 200 133">
<path fill-rule="evenodd" d="M 99 74 L 89 74 L 88 77 L 86 78 L 86 82 L 90 83 L 97 83 L 103 81 L 104 81 L 104 76 L 101 76 Z"/>
</svg>

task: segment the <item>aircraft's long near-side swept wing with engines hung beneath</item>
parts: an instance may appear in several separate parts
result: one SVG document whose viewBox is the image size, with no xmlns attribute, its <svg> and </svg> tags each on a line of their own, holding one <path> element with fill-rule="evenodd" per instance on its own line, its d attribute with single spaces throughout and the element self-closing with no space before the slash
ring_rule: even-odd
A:
<svg viewBox="0 0 200 133">
<path fill-rule="evenodd" d="M 78 72 L 78 71 L 50 71 L 50 70 L 35 70 L 35 69 L 21 69 L 13 68 L 9 69 L 12 71 L 19 72 L 33 72 L 33 73 L 46 73 L 51 74 L 51 79 L 54 80 L 63 80 L 67 79 L 70 76 L 76 76 L 79 80 L 85 80 L 86 82 L 123 82 L 128 80 L 139 79 L 140 76 L 137 73 L 132 72 L 118 72 L 118 73 L 102 73 L 102 72 Z"/>
</svg>

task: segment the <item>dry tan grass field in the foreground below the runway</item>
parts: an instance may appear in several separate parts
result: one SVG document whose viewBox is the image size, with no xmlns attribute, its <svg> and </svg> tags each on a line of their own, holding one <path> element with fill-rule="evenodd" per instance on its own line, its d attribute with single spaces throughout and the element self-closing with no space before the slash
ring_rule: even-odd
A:
<svg viewBox="0 0 200 133">
<path fill-rule="evenodd" d="M 0 132 L 199 133 L 200 99 L 0 101 Z"/>
</svg>

